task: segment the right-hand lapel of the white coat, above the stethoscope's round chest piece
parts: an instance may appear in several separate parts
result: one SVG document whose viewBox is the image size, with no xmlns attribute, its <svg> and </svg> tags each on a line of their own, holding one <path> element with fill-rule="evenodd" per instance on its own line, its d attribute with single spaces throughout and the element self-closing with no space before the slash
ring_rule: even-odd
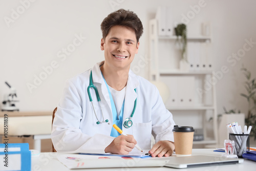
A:
<svg viewBox="0 0 256 171">
<path fill-rule="evenodd" d="M 123 111 L 123 122 L 126 118 L 129 118 L 133 112 L 134 102 L 138 96 L 137 93 L 134 91 L 134 89 L 136 89 L 138 86 L 139 86 L 139 81 L 137 79 L 137 76 L 130 70 L 127 84 L 126 84 L 126 91 L 125 91 L 125 98 L 124 98 L 125 101 L 124 101 L 124 111 Z M 130 133 L 129 130 L 132 130 L 132 129 L 125 129 L 123 127 L 124 132 Z"/>
</svg>

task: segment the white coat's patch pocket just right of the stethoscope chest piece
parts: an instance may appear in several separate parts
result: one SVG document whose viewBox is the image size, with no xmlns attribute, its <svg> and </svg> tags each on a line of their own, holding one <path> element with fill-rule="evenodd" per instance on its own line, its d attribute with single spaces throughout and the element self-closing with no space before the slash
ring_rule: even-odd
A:
<svg viewBox="0 0 256 171">
<path fill-rule="evenodd" d="M 152 121 L 133 123 L 133 136 L 142 149 L 151 149 Z"/>
</svg>

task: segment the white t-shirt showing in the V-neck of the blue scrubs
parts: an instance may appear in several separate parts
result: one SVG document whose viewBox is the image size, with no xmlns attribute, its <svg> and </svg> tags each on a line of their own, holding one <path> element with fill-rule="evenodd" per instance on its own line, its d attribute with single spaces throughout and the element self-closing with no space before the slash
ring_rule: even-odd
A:
<svg viewBox="0 0 256 171">
<path fill-rule="evenodd" d="M 110 86 L 109 88 L 116 106 L 117 117 L 119 117 L 123 105 L 123 100 L 125 97 L 126 86 L 120 91 L 117 91 Z"/>
</svg>

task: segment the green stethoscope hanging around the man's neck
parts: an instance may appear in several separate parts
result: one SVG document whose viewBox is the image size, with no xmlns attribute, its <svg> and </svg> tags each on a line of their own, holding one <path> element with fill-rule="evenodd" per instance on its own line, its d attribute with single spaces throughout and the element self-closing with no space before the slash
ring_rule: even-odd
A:
<svg viewBox="0 0 256 171">
<path fill-rule="evenodd" d="M 96 112 L 95 112 L 95 109 L 94 109 L 94 106 L 93 106 L 93 99 L 92 99 L 92 96 L 91 96 L 90 88 L 93 88 L 93 89 L 94 89 L 95 94 L 96 94 L 96 97 L 97 97 L 97 101 L 99 102 L 99 106 L 100 106 L 100 110 L 101 110 L 101 115 L 102 115 L 102 122 L 99 121 L 99 119 L 98 119 L 98 117 L 97 117 L 97 115 L 96 115 Z M 136 89 L 134 89 L 134 91 L 136 92 Z M 101 104 L 100 104 L 99 93 L 98 93 L 97 88 L 96 88 L 96 87 L 94 86 L 94 84 L 93 84 L 93 75 L 92 75 L 92 71 L 91 71 L 91 74 L 90 74 L 90 83 L 89 83 L 89 86 L 88 86 L 88 88 L 87 88 L 87 92 L 88 92 L 88 96 L 89 96 L 90 102 L 91 102 L 91 104 L 92 104 L 92 106 L 93 106 L 94 114 L 95 114 L 95 116 L 96 116 L 96 118 L 97 118 L 97 120 L 98 120 L 96 123 L 97 123 L 97 124 L 100 124 L 100 123 L 109 122 L 108 119 L 104 120 L 104 116 L 103 116 L 103 112 L 102 112 L 102 108 L 101 108 Z M 124 126 L 125 128 L 129 128 L 129 127 L 131 127 L 131 126 L 133 125 L 132 117 L 133 117 L 133 115 L 134 115 L 134 113 L 135 113 L 136 106 L 137 106 L 137 98 L 136 98 L 135 101 L 134 101 L 134 108 L 133 108 L 133 112 L 132 112 L 131 116 L 130 116 L 129 118 L 126 118 L 126 119 L 124 120 L 124 122 L 123 122 L 123 126 Z"/>
</svg>

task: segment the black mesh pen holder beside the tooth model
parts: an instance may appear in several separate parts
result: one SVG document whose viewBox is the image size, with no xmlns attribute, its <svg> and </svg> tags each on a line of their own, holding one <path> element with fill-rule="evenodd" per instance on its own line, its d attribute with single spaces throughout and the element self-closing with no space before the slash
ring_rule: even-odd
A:
<svg viewBox="0 0 256 171">
<path fill-rule="evenodd" d="M 234 154 L 238 155 L 239 158 L 242 158 L 242 154 L 249 151 L 249 134 L 229 134 L 229 139 L 235 142 Z"/>
</svg>

